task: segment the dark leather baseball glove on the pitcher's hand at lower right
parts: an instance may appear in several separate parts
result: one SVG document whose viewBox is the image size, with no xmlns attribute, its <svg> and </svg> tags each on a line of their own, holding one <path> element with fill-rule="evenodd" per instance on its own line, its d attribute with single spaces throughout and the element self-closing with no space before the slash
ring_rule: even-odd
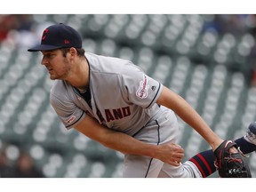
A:
<svg viewBox="0 0 256 192">
<path fill-rule="evenodd" d="M 231 154 L 229 148 L 235 147 L 238 153 Z M 224 140 L 218 148 L 214 150 L 216 160 L 214 162 L 220 178 L 252 178 L 252 174 L 247 162 L 247 156 L 237 147 L 232 140 Z"/>
</svg>

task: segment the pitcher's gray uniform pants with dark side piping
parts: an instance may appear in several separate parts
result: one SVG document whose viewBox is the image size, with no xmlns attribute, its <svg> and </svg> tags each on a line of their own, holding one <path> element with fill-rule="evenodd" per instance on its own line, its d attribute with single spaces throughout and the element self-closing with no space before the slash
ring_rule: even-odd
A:
<svg viewBox="0 0 256 192">
<path fill-rule="evenodd" d="M 172 110 L 161 107 L 150 122 L 134 138 L 151 144 L 177 143 L 179 124 Z M 188 161 L 180 166 L 164 164 L 148 156 L 124 156 L 124 178 L 195 178 L 202 177 L 196 165 Z"/>
</svg>

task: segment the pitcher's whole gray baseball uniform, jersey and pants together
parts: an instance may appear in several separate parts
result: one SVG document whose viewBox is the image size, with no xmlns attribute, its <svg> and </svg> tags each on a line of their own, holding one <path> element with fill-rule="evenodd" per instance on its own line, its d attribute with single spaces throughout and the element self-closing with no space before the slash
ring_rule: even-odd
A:
<svg viewBox="0 0 256 192">
<path fill-rule="evenodd" d="M 91 101 L 66 81 L 55 80 L 52 85 L 52 107 L 68 129 L 88 114 L 100 124 L 144 142 L 155 145 L 177 142 L 176 116 L 171 109 L 156 104 L 163 84 L 129 60 L 89 52 L 85 56 L 90 68 Z M 124 158 L 124 177 L 129 178 L 195 177 L 195 172 L 199 172 L 196 166 L 188 163 L 173 167 L 148 156 L 125 155 Z"/>
</svg>

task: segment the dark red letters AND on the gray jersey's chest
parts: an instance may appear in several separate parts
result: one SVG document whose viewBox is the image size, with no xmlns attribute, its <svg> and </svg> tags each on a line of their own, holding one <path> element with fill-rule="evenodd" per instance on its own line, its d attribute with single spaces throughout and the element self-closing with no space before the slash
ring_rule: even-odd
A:
<svg viewBox="0 0 256 192">
<path fill-rule="evenodd" d="M 131 115 L 131 110 L 129 107 L 105 109 L 105 116 L 107 118 L 107 122 L 119 120 L 130 115 Z"/>
</svg>

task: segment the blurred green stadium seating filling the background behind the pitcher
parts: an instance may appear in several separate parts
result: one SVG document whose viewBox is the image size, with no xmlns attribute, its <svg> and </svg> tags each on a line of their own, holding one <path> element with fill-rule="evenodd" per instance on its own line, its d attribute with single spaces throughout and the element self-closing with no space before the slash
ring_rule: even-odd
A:
<svg viewBox="0 0 256 192">
<path fill-rule="evenodd" d="M 221 137 L 240 137 L 255 121 L 256 15 L 0 15 L 0 177 L 122 176 L 122 154 L 60 124 L 42 56 L 27 52 L 60 22 L 81 33 L 85 52 L 132 60 L 179 93 Z M 179 121 L 185 159 L 209 148 Z"/>
</svg>

